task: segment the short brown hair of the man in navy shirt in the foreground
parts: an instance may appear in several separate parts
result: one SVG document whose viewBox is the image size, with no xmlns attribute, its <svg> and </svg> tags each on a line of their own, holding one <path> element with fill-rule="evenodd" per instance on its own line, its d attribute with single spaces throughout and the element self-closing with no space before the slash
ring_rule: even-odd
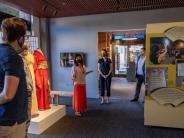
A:
<svg viewBox="0 0 184 138">
<path fill-rule="evenodd" d="M 27 25 L 21 18 L 12 17 L 2 21 L 1 30 L 3 40 L 13 42 L 26 34 Z"/>
</svg>

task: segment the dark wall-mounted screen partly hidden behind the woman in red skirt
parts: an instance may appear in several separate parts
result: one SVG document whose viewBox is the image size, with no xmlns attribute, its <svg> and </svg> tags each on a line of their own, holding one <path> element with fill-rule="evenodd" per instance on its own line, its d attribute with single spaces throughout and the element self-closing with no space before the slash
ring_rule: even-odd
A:
<svg viewBox="0 0 184 138">
<path fill-rule="evenodd" d="M 76 54 L 82 55 L 84 64 L 86 66 L 86 54 L 82 52 L 60 53 L 60 66 L 61 67 L 72 67 L 74 65 L 74 59 L 75 59 Z"/>
</svg>

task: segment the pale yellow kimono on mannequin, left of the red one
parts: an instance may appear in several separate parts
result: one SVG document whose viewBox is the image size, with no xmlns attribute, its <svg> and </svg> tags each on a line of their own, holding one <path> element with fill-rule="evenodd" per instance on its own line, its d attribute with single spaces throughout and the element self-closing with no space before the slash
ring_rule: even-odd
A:
<svg viewBox="0 0 184 138">
<path fill-rule="evenodd" d="M 34 74 L 34 56 L 28 52 L 28 54 L 24 57 L 25 61 L 28 65 L 28 68 L 31 73 L 31 77 L 33 80 L 33 90 L 32 90 L 32 107 L 31 107 L 31 116 L 35 117 L 38 116 L 38 102 L 37 102 L 37 96 L 36 96 L 36 86 L 35 86 L 35 74 Z"/>
</svg>

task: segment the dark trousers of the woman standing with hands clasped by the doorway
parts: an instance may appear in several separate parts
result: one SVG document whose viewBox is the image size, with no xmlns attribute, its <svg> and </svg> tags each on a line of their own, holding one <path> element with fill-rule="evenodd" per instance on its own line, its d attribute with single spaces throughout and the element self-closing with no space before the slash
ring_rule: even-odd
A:
<svg viewBox="0 0 184 138">
<path fill-rule="evenodd" d="M 107 90 L 106 95 L 109 97 L 111 96 L 111 77 L 109 76 L 108 78 L 103 78 L 102 76 L 100 76 L 100 94 L 101 96 L 105 95 L 105 89 Z"/>
</svg>

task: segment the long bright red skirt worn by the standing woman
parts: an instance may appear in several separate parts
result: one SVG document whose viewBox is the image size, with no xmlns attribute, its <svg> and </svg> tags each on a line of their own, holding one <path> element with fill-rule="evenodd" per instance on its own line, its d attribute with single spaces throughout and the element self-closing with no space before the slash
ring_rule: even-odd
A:
<svg viewBox="0 0 184 138">
<path fill-rule="evenodd" d="M 75 112 L 87 111 L 87 98 L 86 98 L 85 84 L 74 85 L 73 109 Z"/>
</svg>

